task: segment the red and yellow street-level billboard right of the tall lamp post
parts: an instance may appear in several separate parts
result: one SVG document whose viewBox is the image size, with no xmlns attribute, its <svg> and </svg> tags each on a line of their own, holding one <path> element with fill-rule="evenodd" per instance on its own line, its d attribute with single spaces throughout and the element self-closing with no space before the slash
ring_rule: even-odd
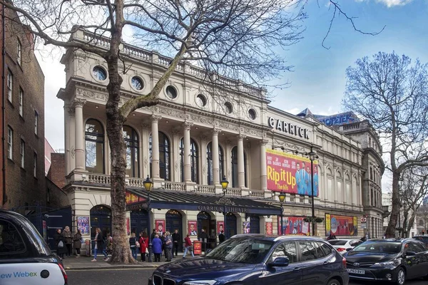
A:
<svg viewBox="0 0 428 285">
<path fill-rule="evenodd" d="M 325 214 L 325 235 L 328 237 L 330 231 L 335 236 L 358 235 L 358 219 L 351 216 L 338 216 L 336 214 Z"/>
</svg>

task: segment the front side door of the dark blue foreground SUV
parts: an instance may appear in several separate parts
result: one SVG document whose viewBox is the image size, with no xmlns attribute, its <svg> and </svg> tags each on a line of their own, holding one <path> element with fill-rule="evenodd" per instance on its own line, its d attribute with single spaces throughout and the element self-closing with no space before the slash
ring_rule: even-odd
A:
<svg viewBox="0 0 428 285">
<path fill-rule="evenodd" d="M 283 267 L 269 266 L 268 264 L 277 257 L 287 257 L 290 264 Z M 275 247 L 269 259 L 267 259 L 265 271 L 263 271 L 263 281 L 260 284 L 302 285 L 302 270 L 299 263 L 297 263 L 295 242 L 282 242 Z"/>
</svg>

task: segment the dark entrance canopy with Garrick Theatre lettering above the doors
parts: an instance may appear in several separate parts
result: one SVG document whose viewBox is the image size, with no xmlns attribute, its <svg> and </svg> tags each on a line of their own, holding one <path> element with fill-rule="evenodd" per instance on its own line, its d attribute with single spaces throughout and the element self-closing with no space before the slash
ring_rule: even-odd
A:
<svg viewBox="0 0 428 285">
<path fill-rule="evenodd" d="M 127 189 L 126 209 L 147 209 L 147 192 L 139 189 Z M 280 215 L 281 208 L 264 202 L 254 201 L 240 197 L 223 195 L 200 195 L 189 192 L 168 192 L 165 190 L 152 190 L 150 194 L 150 207 L 152 209 L 183 209 L 190 211 L 226 212 Z"/>
</svg>

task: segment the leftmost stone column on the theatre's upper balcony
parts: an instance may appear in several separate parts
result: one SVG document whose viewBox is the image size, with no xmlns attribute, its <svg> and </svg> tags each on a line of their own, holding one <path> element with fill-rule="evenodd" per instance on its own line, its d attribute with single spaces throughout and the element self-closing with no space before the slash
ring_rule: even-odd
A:
<svg viewBox="0 0 428 285">
<path fill-rule="evenodd" d="M 84 99 L 75 99 L 73 101 L 74 113 L 76 114 L 76 136 L 74 152 L 76 153 L 76 170 L 85 170 L 85 148 L 84 148 L 84 133 L 83 128 L 83 105 L 86 104 Z"/>
</svg>

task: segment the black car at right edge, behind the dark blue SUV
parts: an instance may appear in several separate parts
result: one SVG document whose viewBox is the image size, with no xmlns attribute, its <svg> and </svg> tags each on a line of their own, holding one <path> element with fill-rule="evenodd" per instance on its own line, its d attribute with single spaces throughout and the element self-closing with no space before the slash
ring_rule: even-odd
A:
<svg viewBox="0 0 428 285">
<path fill-rule="evenodd" d="M 428 278 L 428 248 L 415 239 L 370 239 L 345 254 L 350 279 L 390 281 Z"/>
</svg>

